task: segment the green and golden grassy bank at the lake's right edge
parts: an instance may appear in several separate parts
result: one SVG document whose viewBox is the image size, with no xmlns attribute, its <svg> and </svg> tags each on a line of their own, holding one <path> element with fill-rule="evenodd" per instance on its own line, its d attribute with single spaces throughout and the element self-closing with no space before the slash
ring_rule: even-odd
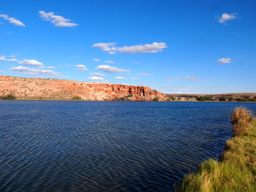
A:
<svg viewBox="0 0 256 192">
<path fill-rule="evenodd" d="M 221 161 L 204 161 L 176 191 L 256 191 L 256 119 L 236 108 L 232 123 L 234 137 L 226 142 Z"/>
</svg>

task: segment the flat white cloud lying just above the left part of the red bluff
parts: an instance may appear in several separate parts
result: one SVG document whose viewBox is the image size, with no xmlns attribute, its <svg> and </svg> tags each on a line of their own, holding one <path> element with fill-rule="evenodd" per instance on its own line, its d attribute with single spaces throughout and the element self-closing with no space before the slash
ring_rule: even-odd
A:
<svg viewBox="0 0 256 192">
<path fill-rule="evenodd" d="M 10 68 L 10 70 L 14 73 L 60 77 L 59 73 L 55 73 L 52 70 L 44 70 L 44 69 L 38 69 L 38 68 L 29 68 L 29 67 L 19 66 L 19 67 L 12 67 Z"/>
</svg>

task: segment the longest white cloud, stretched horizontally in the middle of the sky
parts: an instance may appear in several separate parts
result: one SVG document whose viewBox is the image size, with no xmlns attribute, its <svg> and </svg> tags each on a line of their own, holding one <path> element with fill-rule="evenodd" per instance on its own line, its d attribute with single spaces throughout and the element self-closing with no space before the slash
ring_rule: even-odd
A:
<svg viewBox="0 0 256 192">
<path fill-rule="evenodd" d="M 157 53 L 167 48 L 166 43 L 154 42 L 153 44 L 138 44 L 132 46 L 116 47 L 116 43 L 98 43 L 93 44 L 92 47 L 100 48 L 103 51 L 107 51 L 109 54 L 115 54 L 117 52 L 125 54 L 136 54 L 136 53 Z"/>
</svg>

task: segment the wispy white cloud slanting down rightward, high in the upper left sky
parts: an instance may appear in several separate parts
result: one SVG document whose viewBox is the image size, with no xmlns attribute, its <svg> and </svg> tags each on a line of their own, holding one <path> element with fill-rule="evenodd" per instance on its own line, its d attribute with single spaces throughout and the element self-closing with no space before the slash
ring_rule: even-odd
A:
<svg viewBox="0 0 256 192">
<path fill-rule="evenodd" d="M 39 11 L 39 14 L 44 20 L 49 20 L 55 26 L 63 26 L 63 27 L 78 26 L 77 23 L 72 23 L 70 22 L 69 19 L 66 19 L 60 15 L 54 15 L 53 12 L 46 13 L 44 11 Z"/>
</svg>

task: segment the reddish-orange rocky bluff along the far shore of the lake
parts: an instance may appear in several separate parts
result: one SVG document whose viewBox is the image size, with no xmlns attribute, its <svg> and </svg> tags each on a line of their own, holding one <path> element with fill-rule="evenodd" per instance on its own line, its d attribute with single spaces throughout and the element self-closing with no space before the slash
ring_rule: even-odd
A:
<svg viewBox="0 0 256 192">
<path fill-rule="evenodd" d="M 131 101 L 152 101 L 157 97 L 159 101 L 166 101 L 168 98 L 159 91 L 151 90 L 147 86 L 0 76 L 0 96 L 7 94 L 27 98 L 45 97 L 58 99 L 80 96 L 82 99 L 90 101 L 113 101 L 121 97 Z"/>
</svg>

